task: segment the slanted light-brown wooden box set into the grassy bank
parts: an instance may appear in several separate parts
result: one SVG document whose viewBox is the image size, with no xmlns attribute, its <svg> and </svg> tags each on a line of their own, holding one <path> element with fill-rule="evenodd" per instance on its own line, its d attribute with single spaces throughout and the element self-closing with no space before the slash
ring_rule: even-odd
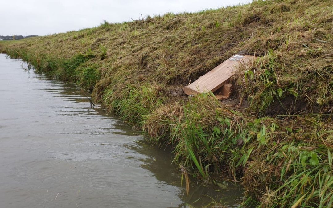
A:
<svg viewBox="0 0 333 208">
<path fill-rule="evenodd" d="M 236 72 L 239 64 L 247 64 L 254 58 L 255 56 L 233 55 L 189 86 L 184 87 L 184 93 L 197 95 L 211 91 L 217 99 L 229 98 L 232 90 L 232 85 L 229 84 L 230 77 Z"/>
</svg>

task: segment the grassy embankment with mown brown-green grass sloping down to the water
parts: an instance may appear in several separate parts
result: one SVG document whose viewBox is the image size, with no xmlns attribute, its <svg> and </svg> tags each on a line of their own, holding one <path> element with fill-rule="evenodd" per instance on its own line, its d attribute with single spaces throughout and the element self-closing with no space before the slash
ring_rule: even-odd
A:
<svg viewBox="0 0 333 208">
<path fill-rule="evenodd" d="M 332 28 L 332 1 L 255 1 L 105 22 L 0 49 L 92 90 L 201 177 L 239 174 L 246 203 L 325 207 L 333 202 Z M 234 77 L 234 102 L 182 94 L 241 50 L 260 57 Z"/>
</svg>

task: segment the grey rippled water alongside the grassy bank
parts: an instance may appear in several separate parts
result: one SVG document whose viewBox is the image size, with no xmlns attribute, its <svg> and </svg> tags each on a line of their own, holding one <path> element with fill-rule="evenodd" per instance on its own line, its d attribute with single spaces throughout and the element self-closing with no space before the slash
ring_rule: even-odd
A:
<svg viewBox="0 0 333 208">
<path fill-rule="evenodd" d="M 145 144 L 100 106 L 91 108 L 77 86 L 22 65 L 0 54 L 0 207 L 239 203 L 242 189 L 234 185 L 215 191 L 192 184 L 186 196 L 170 152 Z"/>
</svg>

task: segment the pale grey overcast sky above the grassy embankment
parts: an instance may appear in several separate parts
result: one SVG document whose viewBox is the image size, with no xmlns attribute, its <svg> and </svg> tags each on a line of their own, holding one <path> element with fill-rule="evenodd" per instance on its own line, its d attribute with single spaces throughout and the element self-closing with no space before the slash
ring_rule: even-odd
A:
<svg viewBox="0 0 333 208">
<path fill-rule="evenodd" d="M 0 35 L 48 35 L 166 12 L 194 12 L 251 0 L 1 0 Z"/>
</svg>

